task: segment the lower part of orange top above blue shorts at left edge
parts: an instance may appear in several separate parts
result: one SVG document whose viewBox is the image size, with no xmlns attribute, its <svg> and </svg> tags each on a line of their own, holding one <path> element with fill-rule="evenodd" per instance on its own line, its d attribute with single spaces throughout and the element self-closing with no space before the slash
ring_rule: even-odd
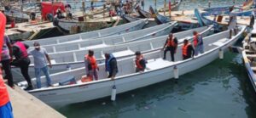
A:
<svg viewBox="0 0 256 118">
<path fill-rule="evenodd" d="M 0 70 L 0 107 L 9 102 L 7 87 L 4 85 L 2 71 Z"/>
</svg>

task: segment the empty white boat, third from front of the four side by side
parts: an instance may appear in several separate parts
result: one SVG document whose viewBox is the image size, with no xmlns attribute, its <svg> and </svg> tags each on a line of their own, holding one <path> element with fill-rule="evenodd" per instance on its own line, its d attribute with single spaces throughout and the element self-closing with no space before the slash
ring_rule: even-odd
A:
<svg viewBox="0 0 256 118">
<path fill-rule="evenodd" d="M 134 42 L 138 40 L 164 36 L 169 34 L 175 25 L 177 25 L 177 23 L 172 22 L 164 25 L 155 25 L 143 30 L 132 31 L 116 36 L 96 38 L 94 40 L 79 40 L 78 42 L 53 44 L 43 47 L 47 50 L 48 53 L 83 50 L 85 48 L 103 48 L 125 42 Z M 33 49 L 33 47 L 31 47 L 30 49 Z"/>
</svg>

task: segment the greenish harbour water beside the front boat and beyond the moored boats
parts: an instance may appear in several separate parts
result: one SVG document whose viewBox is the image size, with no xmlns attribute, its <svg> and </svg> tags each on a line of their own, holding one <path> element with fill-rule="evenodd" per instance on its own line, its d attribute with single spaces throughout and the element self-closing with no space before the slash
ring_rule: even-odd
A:
<svg viewBox="0 0 256 118">
<path fill-rule="evenodd" d="M 243 0 L 236 0 L 241 4 Z M 146 7 L 154 0 L 145 0 Z M 163 6 L 157 1 L 157 8 Z M 212 7 L 233 0 L 212 0 Z M 180 9 L 207 8 L 208 0 L 183 0 Z M 188 67 L 189 68 L 189 67 Z M 108 98 L 55 108 L 68 118 L 246 118 L 256 117 L 256 95 L 240 54 L 225 53 L 224 60 L 180 76 Z"/>
</svg>

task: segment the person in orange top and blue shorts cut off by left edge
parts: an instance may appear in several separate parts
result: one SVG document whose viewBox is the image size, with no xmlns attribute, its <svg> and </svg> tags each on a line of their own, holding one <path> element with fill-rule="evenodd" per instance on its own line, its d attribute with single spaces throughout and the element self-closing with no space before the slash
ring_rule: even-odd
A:
<svg viewBox="0 0 256 118">
<path fill-rule="evenodd" d="M 0 11 L 0 50 L 3 46 L 6 17 Z M 0 59 L 1 60 L 1 59 Z M 10 104 L 9 94 L 3 82 L 2 71 L 0 70 L 0 118 L 13 118 L 12 105 Z"/>
</svg>

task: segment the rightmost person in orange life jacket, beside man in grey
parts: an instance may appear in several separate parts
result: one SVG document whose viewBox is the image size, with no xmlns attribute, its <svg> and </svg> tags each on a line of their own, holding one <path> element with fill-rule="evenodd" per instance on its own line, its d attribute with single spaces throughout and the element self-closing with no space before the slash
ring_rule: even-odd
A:
<svg viewBox="0 0 256 118">
<path fill-rule="evenodd" d="M 195 50 L 194 48 L 192 47 L 192 45 L 189 43 L 189 40 L 188 39 L 185 39 L 183 41 L 183 60 L 184 59 L 189 59 L 191 57 L 194 57 L 195 55 Z"/>
</svg>

